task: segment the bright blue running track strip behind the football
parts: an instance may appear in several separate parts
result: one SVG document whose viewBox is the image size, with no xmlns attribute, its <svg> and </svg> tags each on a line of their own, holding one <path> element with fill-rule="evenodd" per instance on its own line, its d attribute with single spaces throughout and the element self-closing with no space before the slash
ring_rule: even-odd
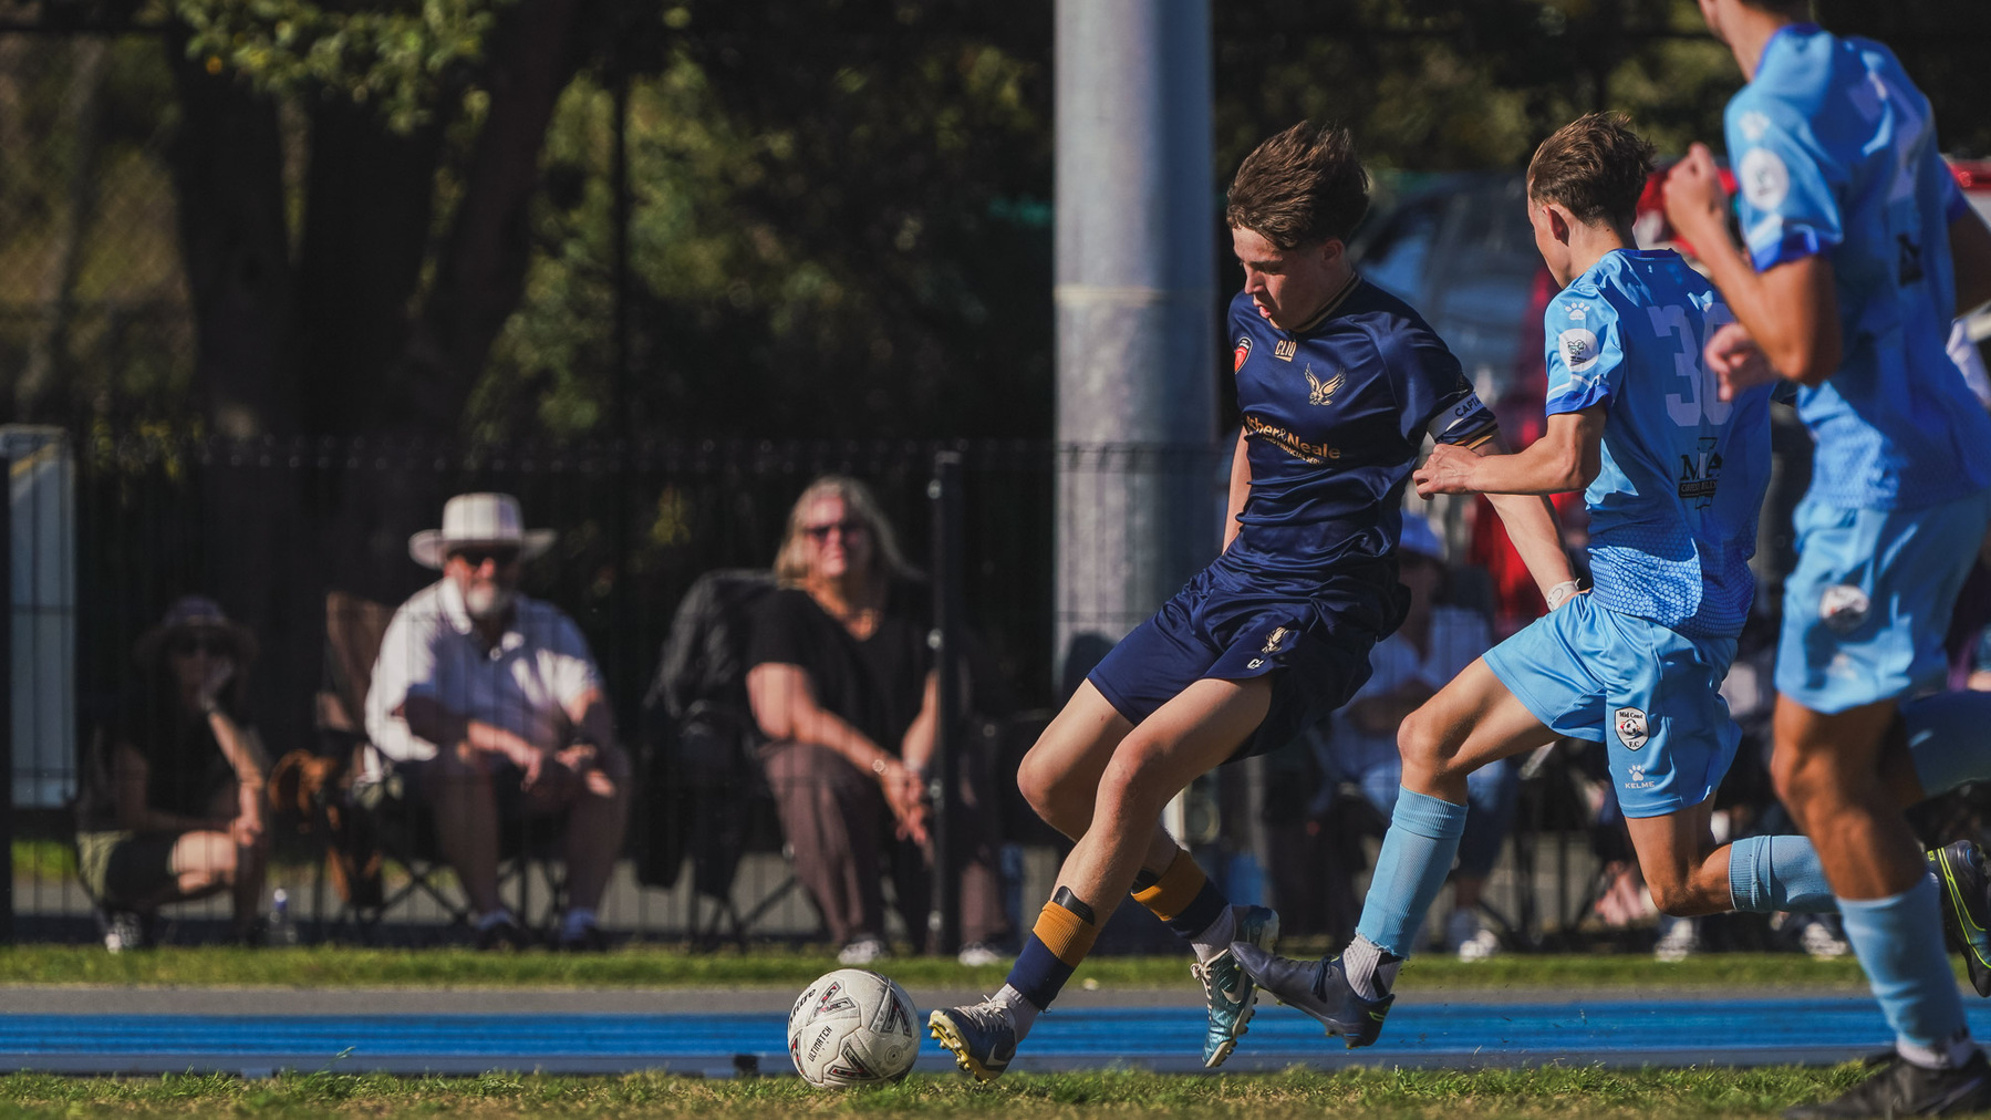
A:
<svg viewBox="0 0 1991 1120">
<path fill-rule="evenodd" d="M 780 1015 L 0 1015 L 0 1070 L 788 1072 L 782 1025 Z M 1971 1028 L 1991 1038 L 1991 1005 L 1973 1001 Z M 1053 1011 L 1011 1068 L 1191 1072 L 1201 1036 L 1201 1009 Z M 1366 1050 L 1266 1001 L 1224 1068 L 1816 1064 L 1885 1044 L 1864 997 L 1402 1005 Z M 926 1040 L 918 1068 L 952 1060 Z"/>
</svg>

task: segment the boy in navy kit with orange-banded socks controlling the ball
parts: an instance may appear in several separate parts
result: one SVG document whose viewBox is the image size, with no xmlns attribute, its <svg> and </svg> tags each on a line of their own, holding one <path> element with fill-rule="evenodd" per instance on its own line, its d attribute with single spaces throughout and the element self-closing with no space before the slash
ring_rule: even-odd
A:
<svg viewBox="0 0 1991 1120">
<path fill-rule="evenodd" d="M 1497 432 L 1418 312 L 1350 267 L 1346 241 L 1366 207 L 1348 133 L 1308 123 L 1264 141 L 1230 187 L 1244 432 L 1224 551 L 1093 668 L 1023 758 L 1023 796 L 1077 843 L 1003 989 L 932 1015 L 940 1044 L 982 1080 L 1007 1068 L 1129 889 L 1197 953 L 1205 1064 L 1244 1034 L 1254 991 L 1232 941 L 1270 949 L 1278 915 L 1232 907 L 1163 832 L 1161 810 L 1362 686 L 1370 647 L 1404 617 L 1402 493 L 1426 436 L 1469 458 Z M 1497 509 L 1543 593 L 1571 595 L 1547 501 Z"/>
</svg>

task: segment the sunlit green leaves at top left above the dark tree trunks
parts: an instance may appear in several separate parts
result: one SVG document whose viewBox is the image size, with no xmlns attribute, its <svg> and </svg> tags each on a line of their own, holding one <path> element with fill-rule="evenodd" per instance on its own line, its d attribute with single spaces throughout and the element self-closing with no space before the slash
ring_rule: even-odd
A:
<svg viewBox="0 0 1991 1120">
<path fill-rule="evenodd" d="M 275 93 L 370 101 L 396 131 L 426 123 L 436 103 L 468 93 L 498 8 L 518 0 L 317 4 L 313 0 L 169 0 L 209 74 L 235 70 Z M 470 93 L 470 107 L 476 97 Z"/>
</svg>

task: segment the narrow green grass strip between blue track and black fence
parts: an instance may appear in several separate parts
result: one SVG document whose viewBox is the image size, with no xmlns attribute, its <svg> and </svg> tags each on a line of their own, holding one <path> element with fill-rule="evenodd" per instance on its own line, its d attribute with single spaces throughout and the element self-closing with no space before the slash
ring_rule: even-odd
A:
<svg viewBox="0 0 1991 1120">
<path fill-rule="evenodd" d="M 1101 987 L 1187 987 L 1187 957 L 1093 957 L 1077 983 Z M 94 945 L 0 949 L 0 985 L 179 985 L 179 987 L 800 987 L 834 969 L 828 951 L 759 949 L 687 953 L 629 945 L 595 957 L 555 953 L 474 953 L 468 949 L 299 949 L 187 947 L 110 955 Z M 944 957 L 900 957 L 876 971 L 914 987 L 994 989 L 1005 965 L 966 969 Z M 1404 969 L 1400 991 L 1591 987 L 1750 989 L 1860 985 L 1852 957 L 1812 961 L 1802 953 L 1714 953 L 1678 965 L 1649 955 L 1507 955 L 1473 965 L 1441 953 Z"/>
</svg>

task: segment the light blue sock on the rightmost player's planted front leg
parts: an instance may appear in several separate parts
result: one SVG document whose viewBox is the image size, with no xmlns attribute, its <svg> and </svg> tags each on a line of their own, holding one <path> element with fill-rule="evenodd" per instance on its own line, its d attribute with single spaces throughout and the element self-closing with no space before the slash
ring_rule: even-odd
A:
<svg viewBox="0 0 1991 1120">
<path fill-rule="evenodd" d="M 1941 1054 L 1965 1025 L 1937 907 L 1935 879 L 1927 875 L 1889 899 L 1840 899 L 1846 939 L 1887 1027 L 1903 1044 Z"/>
</svg>

